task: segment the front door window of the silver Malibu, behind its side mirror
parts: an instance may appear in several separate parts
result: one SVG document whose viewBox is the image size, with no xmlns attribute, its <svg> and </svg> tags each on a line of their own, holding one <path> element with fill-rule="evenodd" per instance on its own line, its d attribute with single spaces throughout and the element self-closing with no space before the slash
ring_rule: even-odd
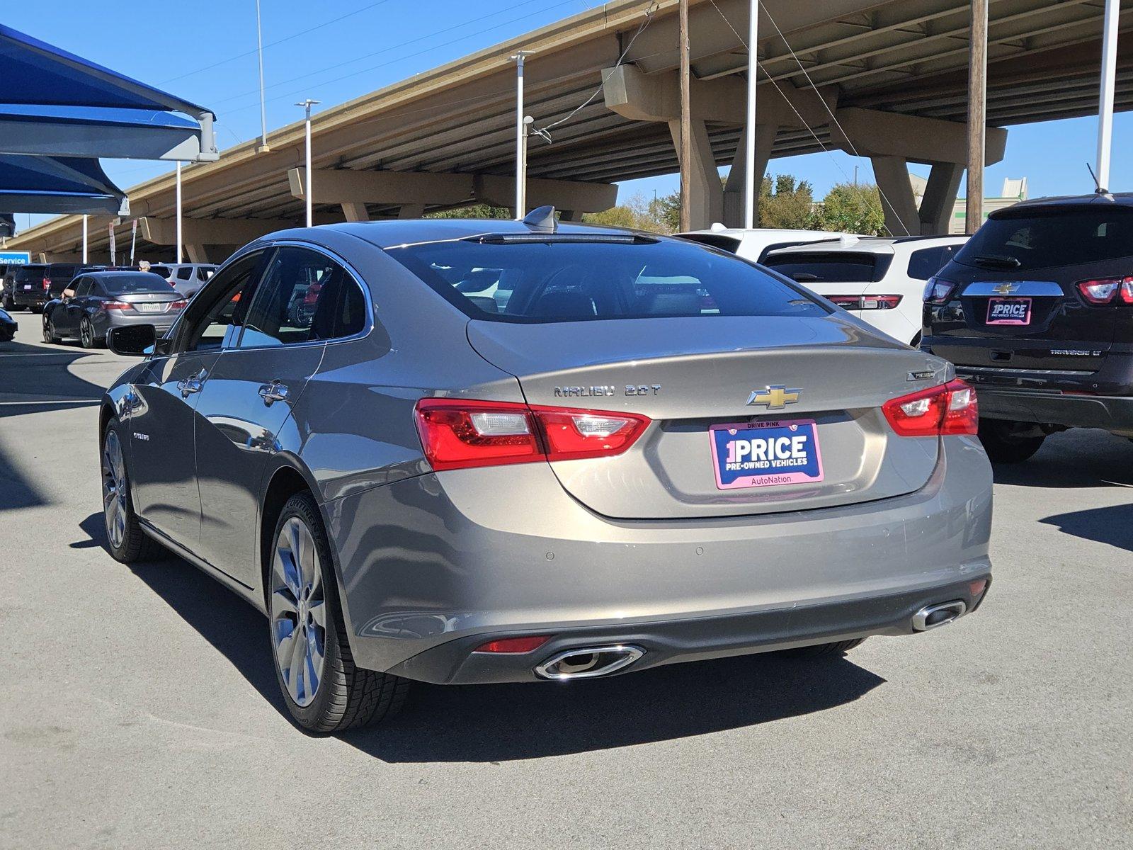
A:
<svg viewBox="0 0 1133 850">
<path fill-rule="evenodd" d="M 197 294 L 186 309 L 176 350 L 207 351 L 235 342 L 255 300 L 263 258 L 258 252 L 241 257 Z"/>
</svg>

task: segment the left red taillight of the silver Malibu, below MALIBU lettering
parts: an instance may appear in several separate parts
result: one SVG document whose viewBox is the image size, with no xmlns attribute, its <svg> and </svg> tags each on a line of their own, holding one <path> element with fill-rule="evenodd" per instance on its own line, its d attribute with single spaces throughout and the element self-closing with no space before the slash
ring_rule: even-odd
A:
<svg viewBox="0 0 1133 850">
<path fill-rule="evenodd" d="M 425 457 L 437 470 L 610 457 L 649 425 L 638 414 L 458 399 L 421 399 L 416 416 Z"/>
</svg>

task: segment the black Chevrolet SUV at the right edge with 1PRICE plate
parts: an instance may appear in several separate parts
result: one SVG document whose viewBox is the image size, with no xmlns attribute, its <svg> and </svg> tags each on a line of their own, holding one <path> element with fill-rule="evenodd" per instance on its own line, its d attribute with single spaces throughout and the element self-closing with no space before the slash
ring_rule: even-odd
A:
<svg viewBox="0 0 1133 850">
<path fill-rule="evenodd" d="M 921 348 L 978 386 L 994 461 L 1068 427 L 1133 437 L 1133 194 L 991 213 L 925 288 Z"/>
</svg>

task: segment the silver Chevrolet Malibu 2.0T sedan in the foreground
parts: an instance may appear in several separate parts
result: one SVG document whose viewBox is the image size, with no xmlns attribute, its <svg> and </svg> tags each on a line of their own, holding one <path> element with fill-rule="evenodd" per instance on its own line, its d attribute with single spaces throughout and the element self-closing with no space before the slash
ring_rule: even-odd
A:
<svg viewBox="0 0 1133 850">
<path fill-rule="evenodd" d="M 267 615 L 301 726 L 409 683 L 842 653 L 973 611 L 991 473 L 952 367 L 715 248 L 384 221 L 237 252 L 101 408 L 110 550 Z"/>
</svg>

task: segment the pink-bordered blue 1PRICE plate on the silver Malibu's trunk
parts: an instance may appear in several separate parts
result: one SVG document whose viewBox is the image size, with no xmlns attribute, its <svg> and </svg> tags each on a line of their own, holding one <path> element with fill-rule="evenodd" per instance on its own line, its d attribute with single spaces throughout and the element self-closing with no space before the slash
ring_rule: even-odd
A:
<svg viewBox="0 0 1133 850">
<path fill-rule="evenodd" d="M 761 448 L 756 448 L 755 439 Z M 794 437 L 803 437 L 793 444 Z M 781 441 L 786 439 L 787 443 Z M 768 444 L 768 441 L 774 443 Z M 815 419 L 748 419 L 708 428 L 713 475 L 717 490 L 753 490 L 795 484 L 817 484 L 825 478 L 823 452 Z M 743 445 L 742 443 L 747 443 Z M 796 450 L 802 450 L 803 462 Z M 768 454 L 775 456 L 768 458 Z M 781 457 L 787 456 L 787 457 Z M 784 461 L 780 464 L 778 461 Z M 742 465 L 727 469 L 731 465 Z"/>
</svg>

